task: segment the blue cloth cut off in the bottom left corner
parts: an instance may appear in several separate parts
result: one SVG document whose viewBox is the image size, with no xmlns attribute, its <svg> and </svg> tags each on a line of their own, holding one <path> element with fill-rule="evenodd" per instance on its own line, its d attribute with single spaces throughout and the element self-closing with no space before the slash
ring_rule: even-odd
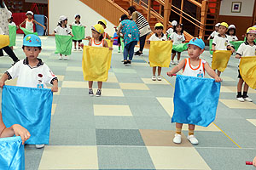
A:
<svg viewBox="0 0 256 170">
<path fill-rule="evenodd" d="M 20 136 L 0 138 L 0 169 L 25 170 L 24 145 Z"/>
</svg>

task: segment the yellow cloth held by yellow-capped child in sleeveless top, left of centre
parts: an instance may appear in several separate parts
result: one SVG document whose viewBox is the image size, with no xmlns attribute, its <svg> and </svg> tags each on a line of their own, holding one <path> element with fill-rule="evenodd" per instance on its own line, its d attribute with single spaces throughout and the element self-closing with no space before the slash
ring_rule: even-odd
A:
<svg viewBox="0 0 256 170">
<path fill-rule="evenodd" d="M 106 82 L 111 55 L 112 51 L 109 48 L 84 46 L 82 61 L 84 80 Z"/>
</svg>

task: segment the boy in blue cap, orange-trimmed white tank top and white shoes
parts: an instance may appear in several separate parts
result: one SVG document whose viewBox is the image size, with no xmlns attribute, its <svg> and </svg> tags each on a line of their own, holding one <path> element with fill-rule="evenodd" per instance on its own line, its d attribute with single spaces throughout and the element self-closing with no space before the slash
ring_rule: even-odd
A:
<svg viewBox="0 0 256 170">
<path fill-rule="evenodd" d="M 208 75 L 215 79 L 215 82 L 221 82 L 222 79 L 212 70 L 207 61 L 200 59 L 200 55 L 205 50 L 205 42 L 203 42 L 201 38 L 195 37 L 189 41 L 188 46 L 189 59 L 183 59 L 178 65 L 172 68 L 172 71 L 167 72 L 167 75 L 172 77 L 178 71 L 183 69 L 183 76 L 205 77 L 205 71 L 207 71 Z M 182 123 L 176 123 L 176 134 L 173 139 L 175 144 L 181 143 L 182 127 Z M 198 144 L 194 131 L 195 125 L 189 124 L 188 139 L 191 144 Z"/>
</svg>

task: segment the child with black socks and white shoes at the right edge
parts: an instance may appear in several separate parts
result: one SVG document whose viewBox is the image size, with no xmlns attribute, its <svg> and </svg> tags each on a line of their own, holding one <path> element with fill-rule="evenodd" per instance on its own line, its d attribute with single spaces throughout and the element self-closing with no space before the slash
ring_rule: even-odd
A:
<svg viewBox="0 0 256 170">
<path fill-rule="evenodd" d="M 256 43 L 254 42 L 255 39 L 256 39 L 256 28 L 255 27 L 248 28 L 246 41 L 242 42 L 241 45 L 239 46 L 239 48 L 237 49 L 236 59 L 241 59 L 241 57 L 256 55 Z M 248 87 L 247 83 L 243 81 L 243 79 L 241 77 L 239 65 L 238 65 L 238 78 L 239 78 L 239 81 L 237 83 L 236 99 L 241 102 L 244 102 L 244 101 L 252 102 L 253 99 L 250 99 L 247 95 L 249 87 Z M 244 82 L 243 94 L 241 95 L 241 87 L 242 87 L 243 82 Z"/>
</svg>

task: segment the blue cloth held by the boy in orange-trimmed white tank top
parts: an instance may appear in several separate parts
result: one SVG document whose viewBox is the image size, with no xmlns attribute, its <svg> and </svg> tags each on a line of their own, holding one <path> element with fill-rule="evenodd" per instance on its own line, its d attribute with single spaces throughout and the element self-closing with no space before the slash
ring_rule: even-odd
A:
<svg viewBox="0 0 256 170">
<path fill-rule="evenodd" d="M 177 75 L 172 122 L 207 127 L 216 117 L 220 82 Z"/>
</svg>

